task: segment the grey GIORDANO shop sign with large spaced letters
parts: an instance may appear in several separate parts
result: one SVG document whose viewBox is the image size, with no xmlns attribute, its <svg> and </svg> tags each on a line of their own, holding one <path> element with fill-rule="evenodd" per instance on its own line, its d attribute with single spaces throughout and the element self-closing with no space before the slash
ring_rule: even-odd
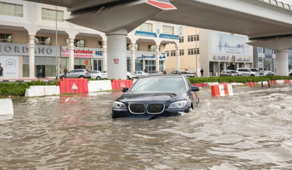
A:
<svg viewBox="0 0 292 170">
<path fill-rule="evenodd" d="M 29 55 L 28 44 L 0 43 L 0 55 Z M 57 54 L 60 57 L 60 46 L 57 46 Z M 56 47 L 53 45 L 35 45 L 34 56 L 56 57 Z"/>
</svg>

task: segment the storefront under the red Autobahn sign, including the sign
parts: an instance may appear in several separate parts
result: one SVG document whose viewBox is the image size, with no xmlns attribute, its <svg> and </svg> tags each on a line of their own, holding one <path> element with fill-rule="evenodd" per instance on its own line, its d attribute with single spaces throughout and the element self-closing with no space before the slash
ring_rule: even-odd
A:
<svg viewBox="0 0 292 170">
<path fill-rule="evenodd" d="M 69 48 L 67 46 L 62 46 L 60 73 L 63 73 L 65 66 L 69 68 Z M 103 71 L 102 49 L 74 47 L 74 69 Z"/>
</svg>

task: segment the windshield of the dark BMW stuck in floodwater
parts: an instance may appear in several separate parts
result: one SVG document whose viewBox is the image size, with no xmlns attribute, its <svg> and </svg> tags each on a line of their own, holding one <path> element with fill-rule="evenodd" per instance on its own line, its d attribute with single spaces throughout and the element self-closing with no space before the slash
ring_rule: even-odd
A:
<svg viewBox="0 0 292 170">
<path fill-rule="evenodd" d="M 183 78 L 178 77 L 150 77 L 141 78 L 131 88 L 136 91 L 177 91 L 186 90 Z"/>
</svg>

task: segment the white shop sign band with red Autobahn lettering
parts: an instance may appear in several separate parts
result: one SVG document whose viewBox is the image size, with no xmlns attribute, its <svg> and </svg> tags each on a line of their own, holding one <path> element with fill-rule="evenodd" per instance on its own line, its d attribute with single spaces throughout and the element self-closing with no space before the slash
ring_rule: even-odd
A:
<svg viewBox="0 0 292 170">
<path fill-rule="evenodd" d="M 69 57 L 69 48 L 61 47 L 61 56 Z M 102 58 L 101 48 L 74 47 L 74 57 Z"/>
</svg>

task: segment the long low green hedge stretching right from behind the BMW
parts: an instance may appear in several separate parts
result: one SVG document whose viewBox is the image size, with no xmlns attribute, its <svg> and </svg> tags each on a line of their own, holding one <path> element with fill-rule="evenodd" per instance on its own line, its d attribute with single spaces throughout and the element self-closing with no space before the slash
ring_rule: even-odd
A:
<svg viewBox="0 0 292 170">
<path fill-rule="evenodd" d="M 203 77 L 203 78 L 189 78 L 192 84 L 219 82 L 219 83 L 249 83 L 269 80 L 291 80 L 292 76 L 239 76 L 239 77 Z"/>
</svg>

